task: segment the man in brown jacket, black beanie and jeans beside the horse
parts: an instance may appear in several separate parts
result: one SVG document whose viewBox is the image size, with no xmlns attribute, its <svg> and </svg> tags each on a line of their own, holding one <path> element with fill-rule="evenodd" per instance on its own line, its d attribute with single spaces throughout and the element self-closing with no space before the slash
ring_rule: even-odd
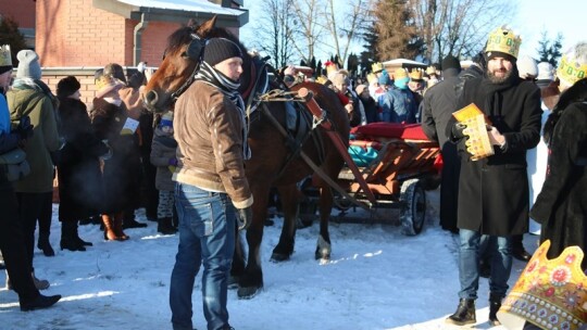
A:
<svg viewBox="0 0 587 330">
<path fill-rule="evenodd" d="M 236 216 L 250 224 L 253 198 L 245 177 L 245 106 L 238 93 L 242 52 L 210 39 L 196 81 L 175 105 L 175 200 L 179 246 L 170 288 L 173 329 L 193 329 L 191 293 L 203 264 L 202 304 L 208 329 L 232 329 L 226 308 Z M 243 226 L 246 227 L 246 226 Z"/>
</svg>

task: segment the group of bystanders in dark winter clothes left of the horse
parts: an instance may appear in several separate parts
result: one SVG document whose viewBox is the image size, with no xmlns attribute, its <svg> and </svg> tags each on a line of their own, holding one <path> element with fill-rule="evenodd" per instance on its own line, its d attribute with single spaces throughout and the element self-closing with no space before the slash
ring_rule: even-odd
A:
<svg viewBox="0 0 587 330">
<path fill-rule="evenodd" d="M 36 277 L 33 259 L 35 245 L 48 257 L 55 254 L 49 241 L 55 178 L 61 250 L 92 246 L 78 236 L 80 221 L 100 224 L 105 240 L 127 240 L 124 229 L 147 227 L 135 219 L 139 207 L 146 208 L 149 220 L 158 221 L 159 232 L 175 233 L 177 215 L 170 191 L 177 143 L 171 112 L 157 119 L 142 112 L 145 64 L 128 80 L 115 63 L 97 71 L 96 97 L 88 109 L 74 76 L 57 84 L 57 96 L 51 91 L 41 80 L 40 59 L 34 51 L 17 53 L 14 78 L 10 47 L 3 46 L 0 55 L 0 150 L 4 154 L 21 149 L 28 166 L 17 179 L 8 175 L 11 165 L 3 165 L 7 170 L 0 173 L 0 250 L 7 287 L 18 293 L 21 309 L 33 310 L 61 299 L 38 292 L 50 284 Z"/>
</svg>

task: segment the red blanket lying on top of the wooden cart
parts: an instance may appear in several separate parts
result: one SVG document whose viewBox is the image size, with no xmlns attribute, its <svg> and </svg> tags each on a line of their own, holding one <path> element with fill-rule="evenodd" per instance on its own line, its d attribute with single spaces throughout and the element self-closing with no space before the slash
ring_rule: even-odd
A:
<svg viewBox="0 0 587 330">
<path fill-rule="evenodd" d="M 357 126 L 351 134 L 361 137 L 398 138 L 403 140 L 428 140 L 420 124 L 371 123 Z"/>
</svg>

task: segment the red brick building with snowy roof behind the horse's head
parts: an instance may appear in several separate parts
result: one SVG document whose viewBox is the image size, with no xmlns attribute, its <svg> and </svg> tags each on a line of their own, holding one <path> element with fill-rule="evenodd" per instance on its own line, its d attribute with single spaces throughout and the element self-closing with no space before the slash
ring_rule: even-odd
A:
<svg viewBox="0 0 587 330">
<path fill-rule="evenodd" d="M 93 98 L 93 72 L 114 62 L 125 68 L 161 63 L 166 38 L 189 18 L 238 35 L 248 23 L 242 0 L 0 0 L 0 15 L 13 17 L 39 54 L 43 80 L 54 87 L 75 75 L 83 99 Z M 53 88 L 54 90 L 54 88 Z"/>
</svg>

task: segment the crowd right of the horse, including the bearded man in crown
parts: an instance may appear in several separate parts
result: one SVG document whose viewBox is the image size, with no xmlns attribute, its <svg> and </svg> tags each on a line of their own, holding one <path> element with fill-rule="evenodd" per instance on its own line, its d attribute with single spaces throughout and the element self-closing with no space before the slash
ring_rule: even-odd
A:
<svg viewBox="0 0 587 330">
<path fill-rule="evenodd" d="M 524 233 L 550 240 L 550 258 L 571 245 L 587 248 L 587 43 L 571 48 L 558 68 L 519 56 L 520 45 L 520 36 L 502 26 L 465 69 L 451 54 L 440 72 L 400 67 L 390 75 L 375 63 L 369 85 L 353 87 L 347 71 L 327 62 L 327 75 L 316 79 L 339 93 L 351 126 L 421 123 L 439 143 L 440 226 L 460 239 L 459 305 L 447 318 L 455 326 L 476 322 L 479 277 L 489 278 L 489 322 L 500 325 L 512 257 L 532 257 Z M 472 154 L 479 132 L 453 115 L 472 103 L 492 149 L 480 158 Z M 525 329 L 540 328 L 536 323 L 528 317 Z"/>
</svg>

